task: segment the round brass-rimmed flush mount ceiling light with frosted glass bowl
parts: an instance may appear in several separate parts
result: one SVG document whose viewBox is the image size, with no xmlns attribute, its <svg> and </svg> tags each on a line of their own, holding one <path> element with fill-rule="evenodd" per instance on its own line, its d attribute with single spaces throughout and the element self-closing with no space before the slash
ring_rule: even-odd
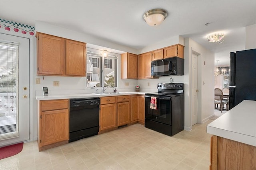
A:
<svg viewBox="0 0 256 170">
<path fill-rule="evenodd" d="M 155 27 L 160 25 L 167 17 L 167 15 L 168 14 L 166 10 L 153 9 L 145 12 L 143 18 L 148 25 Z"/>
</svg>

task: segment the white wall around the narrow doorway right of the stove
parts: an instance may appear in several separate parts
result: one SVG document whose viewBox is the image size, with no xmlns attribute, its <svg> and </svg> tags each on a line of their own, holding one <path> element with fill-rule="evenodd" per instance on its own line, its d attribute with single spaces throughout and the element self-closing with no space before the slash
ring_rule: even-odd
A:
<svg viewBox="0 0 256 170">
<path fill-rule="evenodd" d="M 192 51 L 199 53 L 198 56 L 198 114 L 199 123 L 207 121 L 214 115 L 214 53 L 199 45 L 190 38 L 185 39 L 185 129 L 192 129 L 191 123 L 191 76 Z M 205 62 L 205 65 L 204 65 Z"/>
</svg>

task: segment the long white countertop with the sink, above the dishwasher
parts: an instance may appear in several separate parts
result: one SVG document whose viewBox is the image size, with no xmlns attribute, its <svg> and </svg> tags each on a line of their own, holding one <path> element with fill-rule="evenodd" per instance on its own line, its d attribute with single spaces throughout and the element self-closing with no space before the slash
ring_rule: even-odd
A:
<svg viewBox="0 0 256 170">
<path fill-rule="evenodd" d="M 36 100 L 56 100 L 56 99 L 76 99 L 76 98 L 100 98 L 107 96 L 123 96 L 141 94 L 144 95 L 145 92 L 117 92 L 109 94 L 96 94 L 96 93 L 84 93 L 84 94 L 59 94 L 59 95 L 49 95 L 49 96 L 36 96 Z"/>
</svg>

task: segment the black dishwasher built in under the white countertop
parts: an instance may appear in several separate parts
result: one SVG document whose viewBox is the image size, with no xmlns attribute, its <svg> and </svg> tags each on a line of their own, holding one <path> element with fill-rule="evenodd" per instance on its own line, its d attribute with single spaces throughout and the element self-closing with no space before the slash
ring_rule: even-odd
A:
<svg viewBox="0 0 256 170">
<path fill-rule="evenodd" d="M 100 98 L 70 99 L 69 141 L 97 135 Z"/>
</svg>

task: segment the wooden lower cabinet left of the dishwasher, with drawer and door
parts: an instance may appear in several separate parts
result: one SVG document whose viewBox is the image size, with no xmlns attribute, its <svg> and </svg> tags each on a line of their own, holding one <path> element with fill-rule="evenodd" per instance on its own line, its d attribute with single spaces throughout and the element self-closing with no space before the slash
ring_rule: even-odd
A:
<svg viewBox="0 0 256 170">
<path fill-rule="evenodd" d="M 38 101 L 39 151 L 68 143 L 69 100 Z"/>
</svg>

